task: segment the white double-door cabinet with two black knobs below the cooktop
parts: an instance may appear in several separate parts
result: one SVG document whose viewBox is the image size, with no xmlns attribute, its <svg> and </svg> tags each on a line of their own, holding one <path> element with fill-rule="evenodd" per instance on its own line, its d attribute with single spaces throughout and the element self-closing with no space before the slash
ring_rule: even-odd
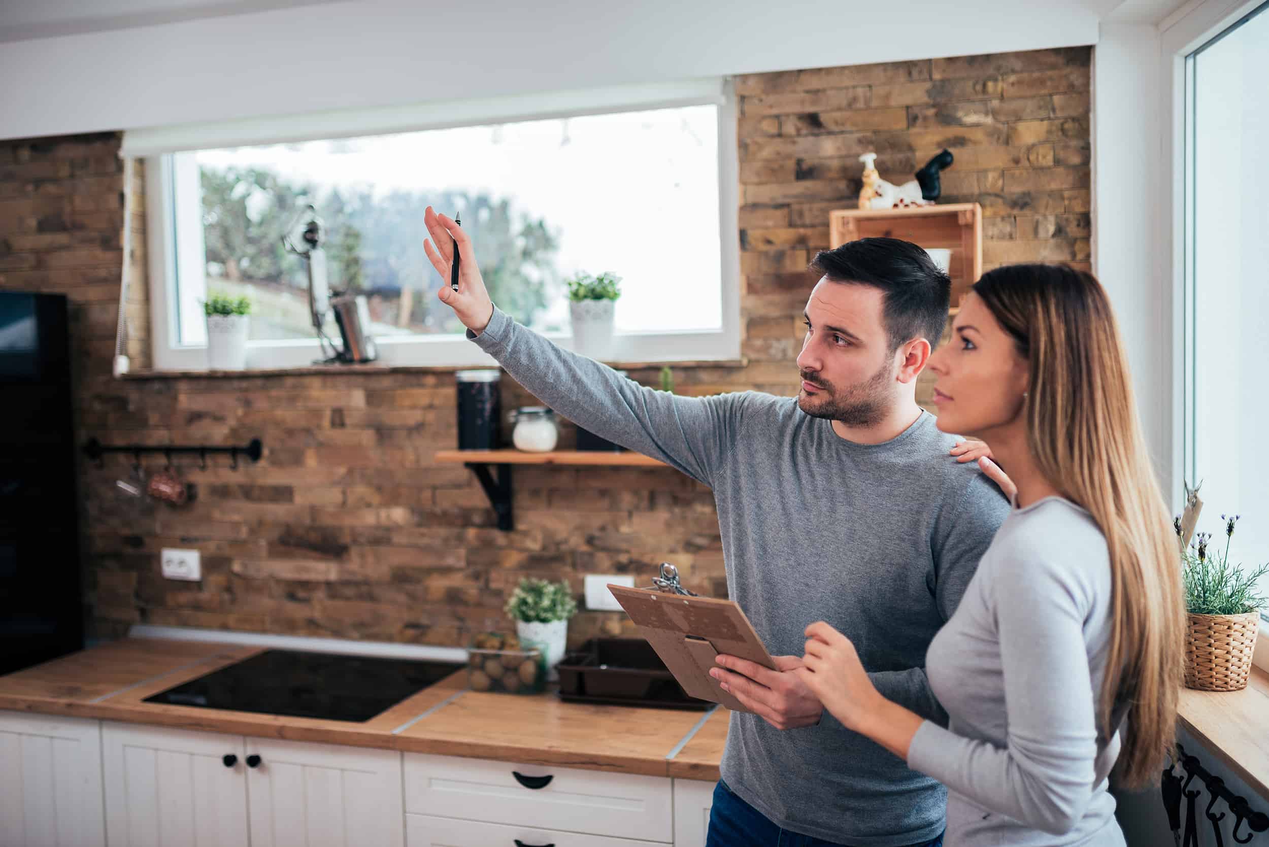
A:
<svg viewBox="0 0 1269 847">
<path fill-rule="evenodd" d="M 114 723 L 102 738 L 112 844 L 405 841 L 400 753 Z"/>
</svg>

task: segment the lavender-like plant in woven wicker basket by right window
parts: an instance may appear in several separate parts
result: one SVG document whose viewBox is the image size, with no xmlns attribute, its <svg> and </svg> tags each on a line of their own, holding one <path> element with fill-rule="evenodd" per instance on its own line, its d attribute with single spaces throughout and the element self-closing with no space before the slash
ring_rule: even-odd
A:
<svg viewBox="0 0 1269 847">
<path fill-rule="evenodd" d="M 1242 571 L 1230 563 L 1230 540 L 1239 515 L 1225 521 L 1225 549 L 1209 549 L 1211 533 L 1199 533 L 1181 552 L 1185 582 L 1185 686 L 1200 691 L 1239 691 L 1251 677 L 1251 654 L 1256 648 L 1260 609 L 1265 598 L 1255 593 L 1256 582 L 1269 573 L 1269 564 Z M 1183 519 L 1174 526 L 1184 539 Z"/>
</svg>

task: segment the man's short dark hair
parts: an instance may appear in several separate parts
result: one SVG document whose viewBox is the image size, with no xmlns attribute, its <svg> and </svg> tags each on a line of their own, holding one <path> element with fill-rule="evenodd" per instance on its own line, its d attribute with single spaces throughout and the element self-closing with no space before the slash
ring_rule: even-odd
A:
<svg viewBox="0 0 1269 847">
<path fill-rule="evenodd" d="M 931 350 L 939 346 L 952 303 L 952 278 L 921 247 L 898 238 L 859 238 L 821 250 L 811 270 L 834 283 L 882 290 L 891 351 L 912 339 L 928 340 Z"/>
</svg>

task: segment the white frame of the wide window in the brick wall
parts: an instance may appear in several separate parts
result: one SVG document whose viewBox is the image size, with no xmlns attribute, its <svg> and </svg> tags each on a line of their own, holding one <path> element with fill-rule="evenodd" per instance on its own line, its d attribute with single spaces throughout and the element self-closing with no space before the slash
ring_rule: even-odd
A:
<svg viewBox="0 0 1269 847">
<path fill-rule="evenodd" d="M 736 98 L 730 79 L 615 86 L 544 95 L 426 103 L 412 107 L 249 119 L 217 124 L 129 131 L 123 156 L 146 161 L 151 337 L 156 370 L 204 370 L 204 345 L 181 345 L 176 326 L 178 270 L 204 273 L 202 226 L 178 214 L 176 186 L 190 179 L 173 153 L 216 147 L 312 141 L 443 129 L 515 120 L 640 112 L 671 107 L 718 107 L 718 222 L 722 326 L 714 331 L 619 332 L 614 363 L 732 361 L 740 359 L 740 164 Z M 193 179 L 197 179 L 197 174 Z M 420 222 L 421 227 L 421 222 Z M 421 237 L 421 236 L 420 236 Z M 571 349 L 567 333 L 549 339 Z M 494 360 L 461 335 L 376 339 L 379 363 L 392 366 L 464 368 Z M 251 341 L 247 368 L 305 368 L 321 358 L 312 340 Z"/>
</svg>

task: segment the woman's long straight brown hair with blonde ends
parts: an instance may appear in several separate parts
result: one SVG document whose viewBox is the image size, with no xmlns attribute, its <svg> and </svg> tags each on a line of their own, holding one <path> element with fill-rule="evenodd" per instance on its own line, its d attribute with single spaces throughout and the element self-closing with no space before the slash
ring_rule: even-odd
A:
<svg viewBox="0 0 1269 847">
<path fill-rule="evenodd" d="M 1105 535 L 1112 634 L 1098 735 L 1126 719 L 1117 772 L 1143 785 L 1175 740 L 1185 607 L 1110 301 L 1091 274 L 1055 265 L 999 268 L 973 290 L 1028 361 L 1023 413 L 1039 472 Z"/>
</svg>

